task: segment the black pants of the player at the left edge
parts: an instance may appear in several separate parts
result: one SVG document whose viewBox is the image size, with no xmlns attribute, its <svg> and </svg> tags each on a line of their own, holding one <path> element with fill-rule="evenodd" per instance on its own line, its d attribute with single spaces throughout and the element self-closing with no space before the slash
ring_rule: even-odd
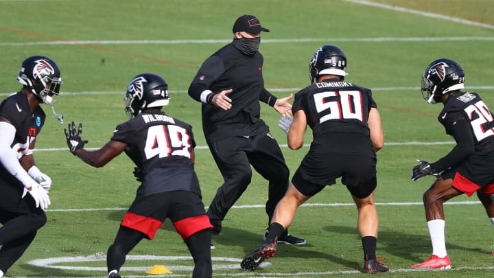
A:
<svg viewBox="0 0 494 278">
<path fill-rule="evenodd" d="M 19 259 L 47 222 L 43 209 L 36 209 L 31 196 L 21 199 L 22 191 L 0 185 L 0 270 L 7 270 Z"/>
</svg>

